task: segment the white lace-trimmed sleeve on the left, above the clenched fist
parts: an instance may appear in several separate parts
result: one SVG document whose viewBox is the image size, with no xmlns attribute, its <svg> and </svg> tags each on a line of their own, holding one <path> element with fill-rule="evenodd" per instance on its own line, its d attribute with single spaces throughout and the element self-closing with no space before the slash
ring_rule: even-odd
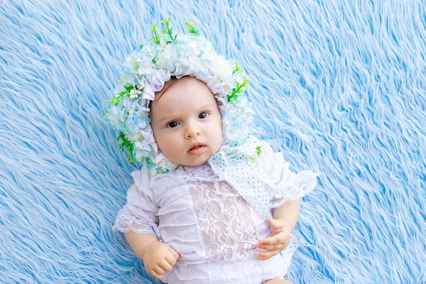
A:
<svg viewBox="0 0 426 284">
<path fill-rule="evenodd" d="M 131 175 L 134 183 L 127 191 L 127 203 L 118 212 L 112 229 L 123 233 L 151 233 L 160 239 L 158 204 L 153 196 L 149 171 L 135 170 Z"/>
</svg>

